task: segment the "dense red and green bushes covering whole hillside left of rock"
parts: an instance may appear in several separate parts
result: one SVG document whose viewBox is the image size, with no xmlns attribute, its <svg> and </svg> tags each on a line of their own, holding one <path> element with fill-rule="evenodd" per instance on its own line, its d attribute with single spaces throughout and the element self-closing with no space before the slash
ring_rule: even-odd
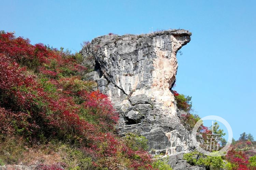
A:
<svg viewBox="0 0 256 170">
<path fill-rule="evenodd" d="M 0 144 L 9 143 L 6 152 L 14 153 L 0 152 L 1 164 L 29 162 L 26 157 L 39 154 L 33 148 L 57 141 L 67 149 L 51 152 L 63 153 L 58 161 L 67 168 L 153 168 L 144 137 L 116 135 L 118 114 L 106 95 L 92 91 L 94 82 L 83 81 L 88 69 L 82 60 L 78 53 L 31 45 L 29 39 L 1 32 Z M 56 161 L 40 166 L 59 167 Z"/>
</svg>

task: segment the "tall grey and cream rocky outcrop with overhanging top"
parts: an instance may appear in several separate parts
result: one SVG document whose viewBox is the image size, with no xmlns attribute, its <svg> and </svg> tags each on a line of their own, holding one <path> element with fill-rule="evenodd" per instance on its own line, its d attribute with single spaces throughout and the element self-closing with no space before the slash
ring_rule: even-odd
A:
<svg viewBox="0 0 256 170">
<path fill-rule="evenodd" d="M 94 69 L 88 79 L 97 82 L 119 112 L 120 135 L 145 136 L 153 154 L 182 156 L 193 148 L 171 92 L 178 68 L 176 53 L 190 41 L 190 35 L 186 30 L 105 35 L 80 51 Z M 175 160 L 182 160 L 181 156 Z M 186 166 L 185 160 L 170 159 L 170 164 L 174 169 L 176 164 L 181 169 Z"/>
</svg>

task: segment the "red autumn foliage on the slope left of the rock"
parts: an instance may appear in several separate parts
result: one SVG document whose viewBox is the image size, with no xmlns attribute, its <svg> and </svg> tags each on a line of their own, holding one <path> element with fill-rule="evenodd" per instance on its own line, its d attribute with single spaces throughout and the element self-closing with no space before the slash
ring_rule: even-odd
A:
<svg viewBox="0 0 256 170">
<path fill-rule="evenodd" d="M 35 69 L 40 74 L 28 75 L 27 69 Z M 72 78 L 59 81 L 59 74 L 70 76 L 85 70 L 61 51 L 46 48 L 43 44 L 33 46 L 28 39 L 15 38 L 13 33 L 0 34 L 0 133 L 19 133 L 30 139 L 42 133 L 61 139 L 69 136 L 86 146 L 82 151 L 94 159 L 112 157 L 115 160 L 122 153 L 130 159 L 130 168 L 152 168 L 149 165 L 152 158 L 146 151 L 133 151 L 113 133 L 118 114 L 108 96 L 98 91 L 65 89 L 61 81 Z M 38 81 L 40 76 L 49 78 L 46 83 L 58 90 L 53 93 L 43 88 Z M 75 98 L 81 103 L 77 104 Z M 98 124 L 86 121 L 80 115 L 81 109 L 97 118 Z M 113 167 L 113 162 L 102 164 L 103 167 Z M 94 165 L 98 166 L 96 162 Z M 39 168 L 62 169 L 59 165 L 40 165 Z"/>
</svg>

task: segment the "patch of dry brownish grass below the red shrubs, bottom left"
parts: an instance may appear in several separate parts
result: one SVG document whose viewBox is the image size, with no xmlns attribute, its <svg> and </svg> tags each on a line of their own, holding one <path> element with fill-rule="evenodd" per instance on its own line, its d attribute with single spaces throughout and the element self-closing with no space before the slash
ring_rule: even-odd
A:
<svg viewBox="0 0 256 170">
<path fill-rule="evenodd" d="M 22 137 L 9 137 L 0 141 L 0 163 L 4 165 L 51 166 L 64 163 L 69 169 L 91 169 L 91 161 L 79 149 L 54 141 L 32 147 Z"/>
</svg>

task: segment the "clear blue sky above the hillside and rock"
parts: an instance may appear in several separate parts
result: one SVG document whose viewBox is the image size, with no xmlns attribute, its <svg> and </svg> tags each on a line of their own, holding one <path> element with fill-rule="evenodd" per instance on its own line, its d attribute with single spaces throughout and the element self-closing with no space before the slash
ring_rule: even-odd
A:
<svg viewBox="0 0 256 170">
<path fill-rule="evenodd" d="M 192 96 L 200 117 L 226 119 L 238 139 L 256 139 L 256 1 L 1 0 L 0 30 L 32 44 L 81 50 L 83 41 L 182 28 L 191 41 L 178 57 L 175 90 Z"/>
</svg>

